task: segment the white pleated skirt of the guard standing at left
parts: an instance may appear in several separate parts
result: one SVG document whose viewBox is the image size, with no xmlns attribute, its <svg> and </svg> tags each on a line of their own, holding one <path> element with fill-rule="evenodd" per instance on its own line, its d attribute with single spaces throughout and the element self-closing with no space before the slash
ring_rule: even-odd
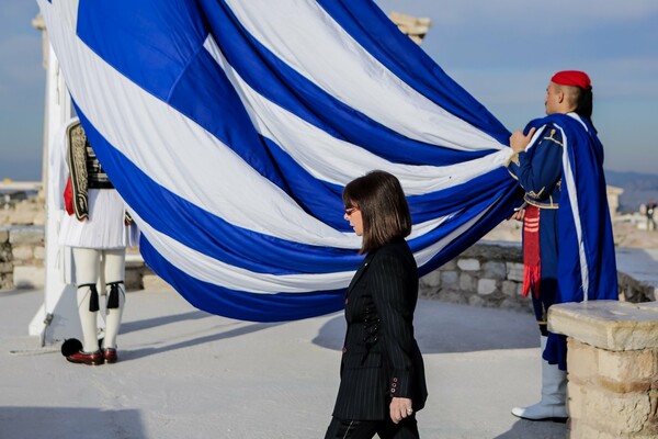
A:
<svg viewBox="0 0 658 439">
<path fill-rule="evenodd" d="M 125 204 L 114 189 L 89 190 L 89 218 L 64 215 L 59 245 L 95 249 L 137 246 L 139 232 L 135 224 L 125 225 Z"/>
</svg>

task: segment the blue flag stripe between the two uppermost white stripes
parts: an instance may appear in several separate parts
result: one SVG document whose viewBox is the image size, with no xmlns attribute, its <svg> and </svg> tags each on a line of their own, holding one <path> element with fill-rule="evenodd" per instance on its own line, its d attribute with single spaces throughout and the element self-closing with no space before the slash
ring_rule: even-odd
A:
<svg viewBox="0 0 658 439">
<path fill-rule="evenodd" d="M 224 1 L 201 0 L 212 34 L 227 60 L 261 95 L 333 137 L 390 161 L 452 165 L 491 150 L 457 151 L 409 139 L 345 105 L 290 68 L 241 26 Z"/>
</svg>

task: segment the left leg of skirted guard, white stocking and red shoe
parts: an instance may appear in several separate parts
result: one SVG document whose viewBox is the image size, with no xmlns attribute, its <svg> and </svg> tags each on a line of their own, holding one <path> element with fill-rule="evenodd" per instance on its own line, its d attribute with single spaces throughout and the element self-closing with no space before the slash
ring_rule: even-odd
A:
<svg viewBox="0 0 658 439">
<path fill-rule="evenodd" d="M 98 312 L 99 293 L 97 281 L 99 279 L 100 250 L 90 248 L 73 248 L 76 264 L 76 284 L 78 315 L 82 328 L 82 351 L 67 357 L 67 360 L 84 364 L 101 364 L 103 357 L 99 350 L 98 339 Z"/>
</svg>

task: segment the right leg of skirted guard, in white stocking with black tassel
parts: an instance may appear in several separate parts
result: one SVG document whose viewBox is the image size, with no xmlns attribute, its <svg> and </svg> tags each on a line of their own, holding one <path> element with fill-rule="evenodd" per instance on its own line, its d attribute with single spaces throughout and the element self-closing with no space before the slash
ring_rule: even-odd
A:
<svg viewBox="0 0 658 439">
<path fill-rule="evenodd" d="M 126 301 L 125 249 L 103 250 L 106 289 L 105 338 L 103 354 L 109 363 L 116 361 L 116 337 L 121 327 L 124 304 Z"/>
</svg>

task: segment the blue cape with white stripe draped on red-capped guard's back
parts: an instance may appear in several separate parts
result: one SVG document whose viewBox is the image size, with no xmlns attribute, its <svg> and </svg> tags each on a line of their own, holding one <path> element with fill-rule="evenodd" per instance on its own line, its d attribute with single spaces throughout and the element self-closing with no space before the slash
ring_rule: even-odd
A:
<svg viewBox="0 0 658 439">
<path fill-rule="evenodd" d="M 560 130 L 564 139 L 555 303 L 617 300 L 603 146 L 591 123 L 568 114 L 532 121 L 525 131 L 545 125 Z M 565 337 L 549 334 L 543 357 L 566 369 Z"/>
</svg>

